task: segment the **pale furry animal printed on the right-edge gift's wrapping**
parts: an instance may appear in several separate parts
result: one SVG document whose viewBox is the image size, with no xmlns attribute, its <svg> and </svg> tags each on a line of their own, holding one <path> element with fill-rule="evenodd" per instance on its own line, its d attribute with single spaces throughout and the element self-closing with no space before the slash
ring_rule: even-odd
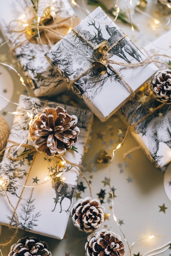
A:
<svg viewBox="0 0 171 256">
<path fill-rule="evenodd" d="M 155 117 L 148 124 L 146 129 L 149 151 L 155 160 L 162 156 L 157 156 L 159 143 L 163 142 L 171 148 L 171 110 L 165 116 Z"/>
</svg>

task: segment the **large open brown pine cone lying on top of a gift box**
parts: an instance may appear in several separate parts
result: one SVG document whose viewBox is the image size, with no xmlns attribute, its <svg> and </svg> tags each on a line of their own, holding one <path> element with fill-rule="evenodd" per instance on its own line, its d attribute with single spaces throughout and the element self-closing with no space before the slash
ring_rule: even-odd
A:
<svg viewBox="0 0 171 256">
<path fill-rule="evenodd" d="M 30 126 L 29 141 L 39 152 L 47 155 L 62 155 L 70 150 L 77 141 L 80 129 L 75 125 L 78 119 L 70 116 L 60 106 L 56 109 L 44 108 L 42 113 L 35 115 Z"/>
</svg>

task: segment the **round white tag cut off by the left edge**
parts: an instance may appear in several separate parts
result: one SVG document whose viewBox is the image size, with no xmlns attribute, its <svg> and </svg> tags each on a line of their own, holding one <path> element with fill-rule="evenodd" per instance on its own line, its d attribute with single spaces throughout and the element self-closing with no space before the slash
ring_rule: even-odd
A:
<svg viewBox="0 0 171 256">
<path fill-rule="evenodd" d="M 14 93 L 14 83 L 11 74 L 0 65 L 0 95 L 8 100 L 12 99 Z M 9 102 L 0 97 L 0 107 L 5 108 Z M 1 109 L 0 109 L 1 111 Z"/>
</svg>

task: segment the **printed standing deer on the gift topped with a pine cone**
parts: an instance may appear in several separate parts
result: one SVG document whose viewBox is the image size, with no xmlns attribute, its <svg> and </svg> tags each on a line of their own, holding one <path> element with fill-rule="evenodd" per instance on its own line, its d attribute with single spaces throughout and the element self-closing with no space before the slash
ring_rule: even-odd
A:
<svg viewBox="0 0 171 256">
<path fill-rule="evenodd" d="M 51 177 L 52 177 L 52 188 L 55 189 L 56 196 L 60 197 L 60 201 L 59 201 L 59 203 L 60 203 L 60 213 L 62 212 L 62 205 L 61 204 L 62 204 L 62 201 L 65 197 L 70 199 L 70 205 L 69 205 L 68 209 L 66 210 L 66 212 L 69 212 L 69 208 L 70 208 L 71 203 L 72 203 L 72 198 L 73 198 L 74 190 L 75 190 L 76 186 L 63 182 L 60 179 L 60 177 L 56 177 L 56 174 L 57 173 L 53 173 L 53 175 L 51 175 Z M 56 204 L 57 204 L 57 202 L 55 202 L 55 207 L 52 210 L 52 212 L 55 211 Z"/>
</svg>

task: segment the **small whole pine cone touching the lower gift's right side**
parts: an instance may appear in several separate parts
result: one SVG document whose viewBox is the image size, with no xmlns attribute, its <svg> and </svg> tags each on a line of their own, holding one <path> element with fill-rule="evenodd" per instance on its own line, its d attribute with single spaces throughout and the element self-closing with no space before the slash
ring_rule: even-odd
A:
<svg viewBox="0 0 171 256">
<path fill-rule="evenodd" d="M 99 200 L 85 197 L 74 204 L 71 216 L 75 227 L 89 233 L 104 222 L 104 212 L 105 209 L 100 205 Z"/>
</svg>

